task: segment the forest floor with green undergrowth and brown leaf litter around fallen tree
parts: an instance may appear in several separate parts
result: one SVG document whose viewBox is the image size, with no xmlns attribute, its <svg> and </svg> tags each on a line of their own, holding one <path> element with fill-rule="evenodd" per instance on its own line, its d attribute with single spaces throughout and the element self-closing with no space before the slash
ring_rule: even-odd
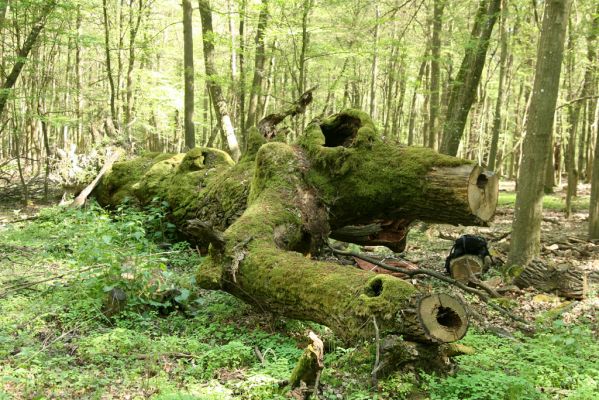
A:
<svg viewBox="0 0 599 400">
<path fill-rule="evenodd" d="M 513 190 L 502 183 L 489 228 L 417 224 L 402 257 L 442 271 L 453 240 L 476 233 L 505 260 Z M 580 186 L 570 219 L 563 190 L 545 197 L 541 262 L 599 269 L 599 243 L 586 239 L 588 192 Z M 397 373 L 375 388 L 369 343 L 346 348 L 323 326 L 198 290 L 201 255 L 173 243 L 164 204 L 109 213 L 93 204 L 70 210 L 38 202 L 39 191 L 22 207 L 12 192 L 0 193 L 0 399 L 283 399 L 281 382 L 309 330 L 327 346 L 321 399 L 590 400 L 599 393 L 596 293 L 571 301 L 509 292 L 501 305 L 534 326 L 532 334 L 464 295 L 477 317 L 461 343 L 476 353 L 458 357 L 456 374 Z M 491 269 L 485 278 L 500 274 Z M 127 301 L 108 317 L 115 287 Z"/>
</svg>

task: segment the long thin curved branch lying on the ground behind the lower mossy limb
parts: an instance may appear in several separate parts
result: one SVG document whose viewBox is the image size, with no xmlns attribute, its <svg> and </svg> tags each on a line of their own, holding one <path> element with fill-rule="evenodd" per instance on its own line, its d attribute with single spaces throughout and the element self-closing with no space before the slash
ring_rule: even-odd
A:
<svg viewBox="0 0 599 400">
<path fill-rule="evenodd" d="M 530 326 L 528 326 L 528 323 L 526 322 L 526 320 L 518 317 L 517 315 L 512 314 L 511 312 L 509 312 L 508 310 L 506 310 L 505 308 L 494 304 L 491 299 L 489 299 L 489 297 L 482 291 L 480 290 L 476 290 L 473 289 L 471 287 L 468 287 L 466 285 L 464 285 L 461 282 L 456 281 L 455 279 L 449 278 L 445 275 L 440 274 L 439 272 L 430 270 L 430 269 L 425 269 L 425 268 L 419 268 L 419 269 L 405 269 L 405 268 L 400 268 L 400 267 L 392 267 L 391 265 L 387 265 L 385 263 L 380 262 L 379 260 L 372 258 L 372 257 L 368 257 L 365 256 L 363 254 L 360 253 L 354 253 L 352 251 L 341 251 L 341 250 L 337 250 L 334 248 L 331 248 L 331 251 L 334 254 L 337 255 L 342 255 L 342 256 L 351 256 L 351 257 L 357 257 L 357 258 L 361 258 L 364 261 L 368 261 L 369 263 L 375 264 L 383 269 L 389 270 L 389 271 L 393 271 L 393 272 L 401 272 L 402 274 L 406 274 L 410 277 L 415 276 L 415 275 L 428 275 L 431 276 L 433 278 L 436 278 L 440 281 L 449 283 L 453 286 L 457 286 L 458 288 L 462 289 L 465 292 L 468 293 L 472 293 L 477 295 L 482 301 L 484 301 L 485 303 L 487 303 L 489 305 L 489 307 L 491 307 L 492 309 L 494 309 L 495 311 L 503 314 L 504 316 L 513 319 L 514 321 L 520 322 L 521 324 L 523 324 L 524 326 L 522 328 L 524 328 L 525 330 L 530 330 Z"/>
</svg>

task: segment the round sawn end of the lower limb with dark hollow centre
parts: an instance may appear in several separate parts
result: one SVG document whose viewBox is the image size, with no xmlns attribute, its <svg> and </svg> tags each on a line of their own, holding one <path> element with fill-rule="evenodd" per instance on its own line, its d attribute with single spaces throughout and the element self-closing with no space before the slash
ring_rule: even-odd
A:
<svg viewBox="0 0 599 400">
<path fill-rule="evenodd" d="M 449 343 L 460 340 L 468 330 L 468 313 L 464 304 L 445 293 L 420 299 L 417 307 L 420 325 L 433 341 Z"/>
</svg>

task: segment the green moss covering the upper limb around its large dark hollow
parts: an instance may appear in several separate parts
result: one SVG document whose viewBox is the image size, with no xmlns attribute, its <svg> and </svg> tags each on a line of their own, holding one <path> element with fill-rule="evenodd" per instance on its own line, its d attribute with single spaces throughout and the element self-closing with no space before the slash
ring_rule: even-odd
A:
<svg viewBox="0 0 599 400">
<path fill-rule="evenodd" d="M 344 146 L 327 147 L 330 135 L 353 139 Z M 378 136 L 370 117 L 357 110 L 311 124 L 299 143 L 311 162 L 306 180 L 320 192 L 341 225 L 359 221 L 362 215 L 365 220 L 393 218 L 397 210 L 407 217 L 405 210 L 420 201 L 428 188 L 423 178 L 429 171 L 472 164 L 428 148 L 390 146 Z M 447 191 L 450 195 L 451 188 Z"/>
</svg>

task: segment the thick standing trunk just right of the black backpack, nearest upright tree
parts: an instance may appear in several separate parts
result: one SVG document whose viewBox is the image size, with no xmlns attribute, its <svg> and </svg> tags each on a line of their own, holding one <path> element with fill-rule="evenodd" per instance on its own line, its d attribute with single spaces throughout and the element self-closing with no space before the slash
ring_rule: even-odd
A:
<svg viewBox="0 0 599 400">
<path fill-rule="evenodd" d="M 549 160 L 569 10 L 570 0 L 549 0 L 545 7 L 508 265 L 526 265 L 539 252 L 545 166 Z"/>
</svg>

